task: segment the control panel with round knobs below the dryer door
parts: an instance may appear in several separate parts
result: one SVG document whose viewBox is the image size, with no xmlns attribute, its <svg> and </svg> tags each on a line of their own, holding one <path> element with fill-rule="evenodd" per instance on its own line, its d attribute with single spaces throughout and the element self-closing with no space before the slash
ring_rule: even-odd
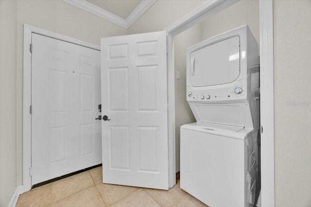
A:
<svg viewBox="0 0 311 207">
<path fill-rule="evenodd" d="M 245 85 L 236 85 L 234 87 L 215 88 L 210 90 L 199 90 L 188 87 L 187 100 L 193 101 L 227 101 L 245 99 L 247 90 Z"/>
</svg>

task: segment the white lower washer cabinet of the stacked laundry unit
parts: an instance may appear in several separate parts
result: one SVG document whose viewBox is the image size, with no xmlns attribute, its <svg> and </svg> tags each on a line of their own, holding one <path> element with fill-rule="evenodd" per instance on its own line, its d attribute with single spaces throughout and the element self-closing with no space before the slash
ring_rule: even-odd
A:
<svg viewBox="0 0 311 207">
<path fill-rule="evenodd" d="M 213 130 L 219 135 L 211 134 Z M 210 207 L 252 206 L 257 185 L 257 133 L 237 139 L 228 133 L 222 136 L 223 132 L 221 128 L 181 127 L 180 188 Z M 235 133 L 229 132 L 233 137 Z"/>
</svg>

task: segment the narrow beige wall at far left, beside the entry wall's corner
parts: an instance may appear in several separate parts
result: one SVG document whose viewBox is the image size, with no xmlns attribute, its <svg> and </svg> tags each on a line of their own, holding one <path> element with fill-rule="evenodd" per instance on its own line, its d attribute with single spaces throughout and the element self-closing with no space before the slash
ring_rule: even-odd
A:
<svg viewBox="0 0 311 207">
<path fill-rule="evenodd" d="M 0 207 L 7 207 L 16 178 L 16 1 L 0 0 Z"/>
</svg>

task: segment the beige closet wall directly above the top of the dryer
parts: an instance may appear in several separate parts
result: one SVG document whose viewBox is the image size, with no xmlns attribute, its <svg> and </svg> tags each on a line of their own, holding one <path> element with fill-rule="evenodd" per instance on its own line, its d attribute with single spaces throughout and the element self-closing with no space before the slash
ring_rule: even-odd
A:
<svg viewBox="0 0 311 207">
<path fill-rule="evenodd" d="M 259 45 L 259 0 L 240 0 L 202 22 L 202 38 L 247 24 Z"/>
</svg>

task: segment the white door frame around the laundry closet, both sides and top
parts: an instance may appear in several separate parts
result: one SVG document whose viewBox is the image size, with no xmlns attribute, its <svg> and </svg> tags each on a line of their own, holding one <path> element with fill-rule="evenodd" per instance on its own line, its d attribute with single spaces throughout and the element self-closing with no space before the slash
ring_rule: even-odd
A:
<svg viewBox="0 0 311 207">
<path fill-rule="evenodd" d="M 175 138 L 174 96 L 174 36 L 205 20 L 239 0 L 207 0 L 169 27 L 168 44 L 168 101 L 169 137 Z M 260 33 L 260 124 L 261 124 L 261 204 L 275 206 L 274 186 L 274 67 L 273 67 L 273 1 L 259 0 Z M 263 82 L 264 80 L 264 82 Z M 175 184 L 175 139 L 169 140 L 170 187 Z M 173 182 L 171 182 L 173 181 Z"/>
</svg>

